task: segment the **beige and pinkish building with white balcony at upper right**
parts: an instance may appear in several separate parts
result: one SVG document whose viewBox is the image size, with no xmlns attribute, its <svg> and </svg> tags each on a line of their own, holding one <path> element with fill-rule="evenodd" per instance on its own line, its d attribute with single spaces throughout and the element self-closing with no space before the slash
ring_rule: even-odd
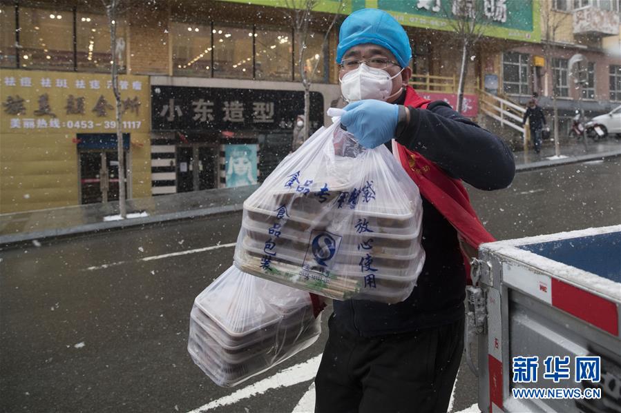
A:
<svg viewBox="0 0 621 413">
<path fill-rule="evenodd" d="M 621 105 L 621 2 L 551 0 L 541 7 L 542 40 L 499 55 L 501 93 L 522 104 L 537 94 L 548 114 L 555 97 L 563 136 L 576 110 L 593 117 Z M 577 54 L 584 60 L 572 70 Z"/>
</svg>

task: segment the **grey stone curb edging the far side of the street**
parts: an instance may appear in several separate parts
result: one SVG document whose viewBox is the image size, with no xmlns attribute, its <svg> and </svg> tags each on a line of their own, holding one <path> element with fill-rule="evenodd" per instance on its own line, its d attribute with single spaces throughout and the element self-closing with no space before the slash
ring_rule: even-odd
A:
<svg viewBox="0 0 621 413">
<path fill-rule="evenodd" d="M 613 152 L 602 152 L 598 154 L 584 154 L 580 156 L 571 156 L 563 159 L 554 159 L 546 161 L 537 161 L 533 163 L 527 163 L 524 165 L 517 165 L 515 172 L 526 172 L 531 170 L 551 168 L 559 165 L 567 165 L 570 163 L 580 163 L 584 161 L 594 161 L 598 159 L 615 158 L 621 156 L 621 150 Z M 131 228 L 138 225 L 151 225 L 155 223 L 162 223 L 166 221 L 179 221 L 182 219 L 191 219 L 195 217 L 209 216 L 224 214 L 227 212 L 238 212 L 242 210 L 243 202 L 232 205 L 222 205 L 210 208 L 200 208 L 197 210 L 189 210 L 182 212 L 171 212 L 168 214 L 159 214 L 153 216 L 143 216 L 140 218 L 127 219 L 125 221 L 108 221 L 100 223 L 90 223 L 85 225 L 79 225 L 71 228 L 57 228 L 54 230 L 44 230 L 37 232 L 26 232 L 20 234 L 10 234 L 0 236 L 0 250 L 6 248 L 9 245 L 26 243 L 28 241 L 35 241 L 41 239 L 54 239 L 66 236 L 72 236 L 77 234 L 88 234 L 94 232 L 103 232 L 108 230 L 122 230 L 124 228 Z"/>
</svg>

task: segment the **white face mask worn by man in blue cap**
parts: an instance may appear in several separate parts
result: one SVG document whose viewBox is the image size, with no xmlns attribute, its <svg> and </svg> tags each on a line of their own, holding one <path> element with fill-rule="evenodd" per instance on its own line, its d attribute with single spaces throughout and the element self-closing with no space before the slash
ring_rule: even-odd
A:
<svg viewBox="0 0 621 413">
<path fill-rule="evenodd" d="M 390 76 L 388 72 L 382 69 L 370 68 L 365 63 L 361 63 L 359 68 L 347 72 L 341 79 L 341 93 L 343 97 L 349 101 L 361 101 L 363 99 L 376 99 L 379 101 L 387 101 L 391 97 L 399 94 L 390 94 L 392 92 L 392 79 L 399 76 L 403 69 L 394 76 Z"/>
</svg>

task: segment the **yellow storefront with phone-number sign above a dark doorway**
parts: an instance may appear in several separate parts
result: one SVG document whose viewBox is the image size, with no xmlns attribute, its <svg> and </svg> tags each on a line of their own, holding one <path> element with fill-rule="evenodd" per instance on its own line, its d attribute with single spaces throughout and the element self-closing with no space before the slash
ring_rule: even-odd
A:
<svg viewBox="0 0 621 413">
<path fill-rule="evenodd" d="M 118 199 L 106 74 L 0 70 L 0 212 Z M 120 76 L 128 198 L 151 192 L 149 78 Z"/>
</svg>

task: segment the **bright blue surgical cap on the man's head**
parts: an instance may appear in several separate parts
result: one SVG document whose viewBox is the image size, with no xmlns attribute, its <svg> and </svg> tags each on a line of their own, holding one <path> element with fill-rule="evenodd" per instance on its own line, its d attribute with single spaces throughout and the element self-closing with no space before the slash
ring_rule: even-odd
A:
<svg viewBox="0 0 621 413">
<path fill-rule="evenodd" d="M 408 66 L 412 59 L 408 34 L 394 17 L 383 10 L 365 8 L 350 14 L 341 25 L 338 40 L 336 63 L 341 63 L 347 50 L 364 43 L 390 50 L 402 68 Z"/>
</svg>

